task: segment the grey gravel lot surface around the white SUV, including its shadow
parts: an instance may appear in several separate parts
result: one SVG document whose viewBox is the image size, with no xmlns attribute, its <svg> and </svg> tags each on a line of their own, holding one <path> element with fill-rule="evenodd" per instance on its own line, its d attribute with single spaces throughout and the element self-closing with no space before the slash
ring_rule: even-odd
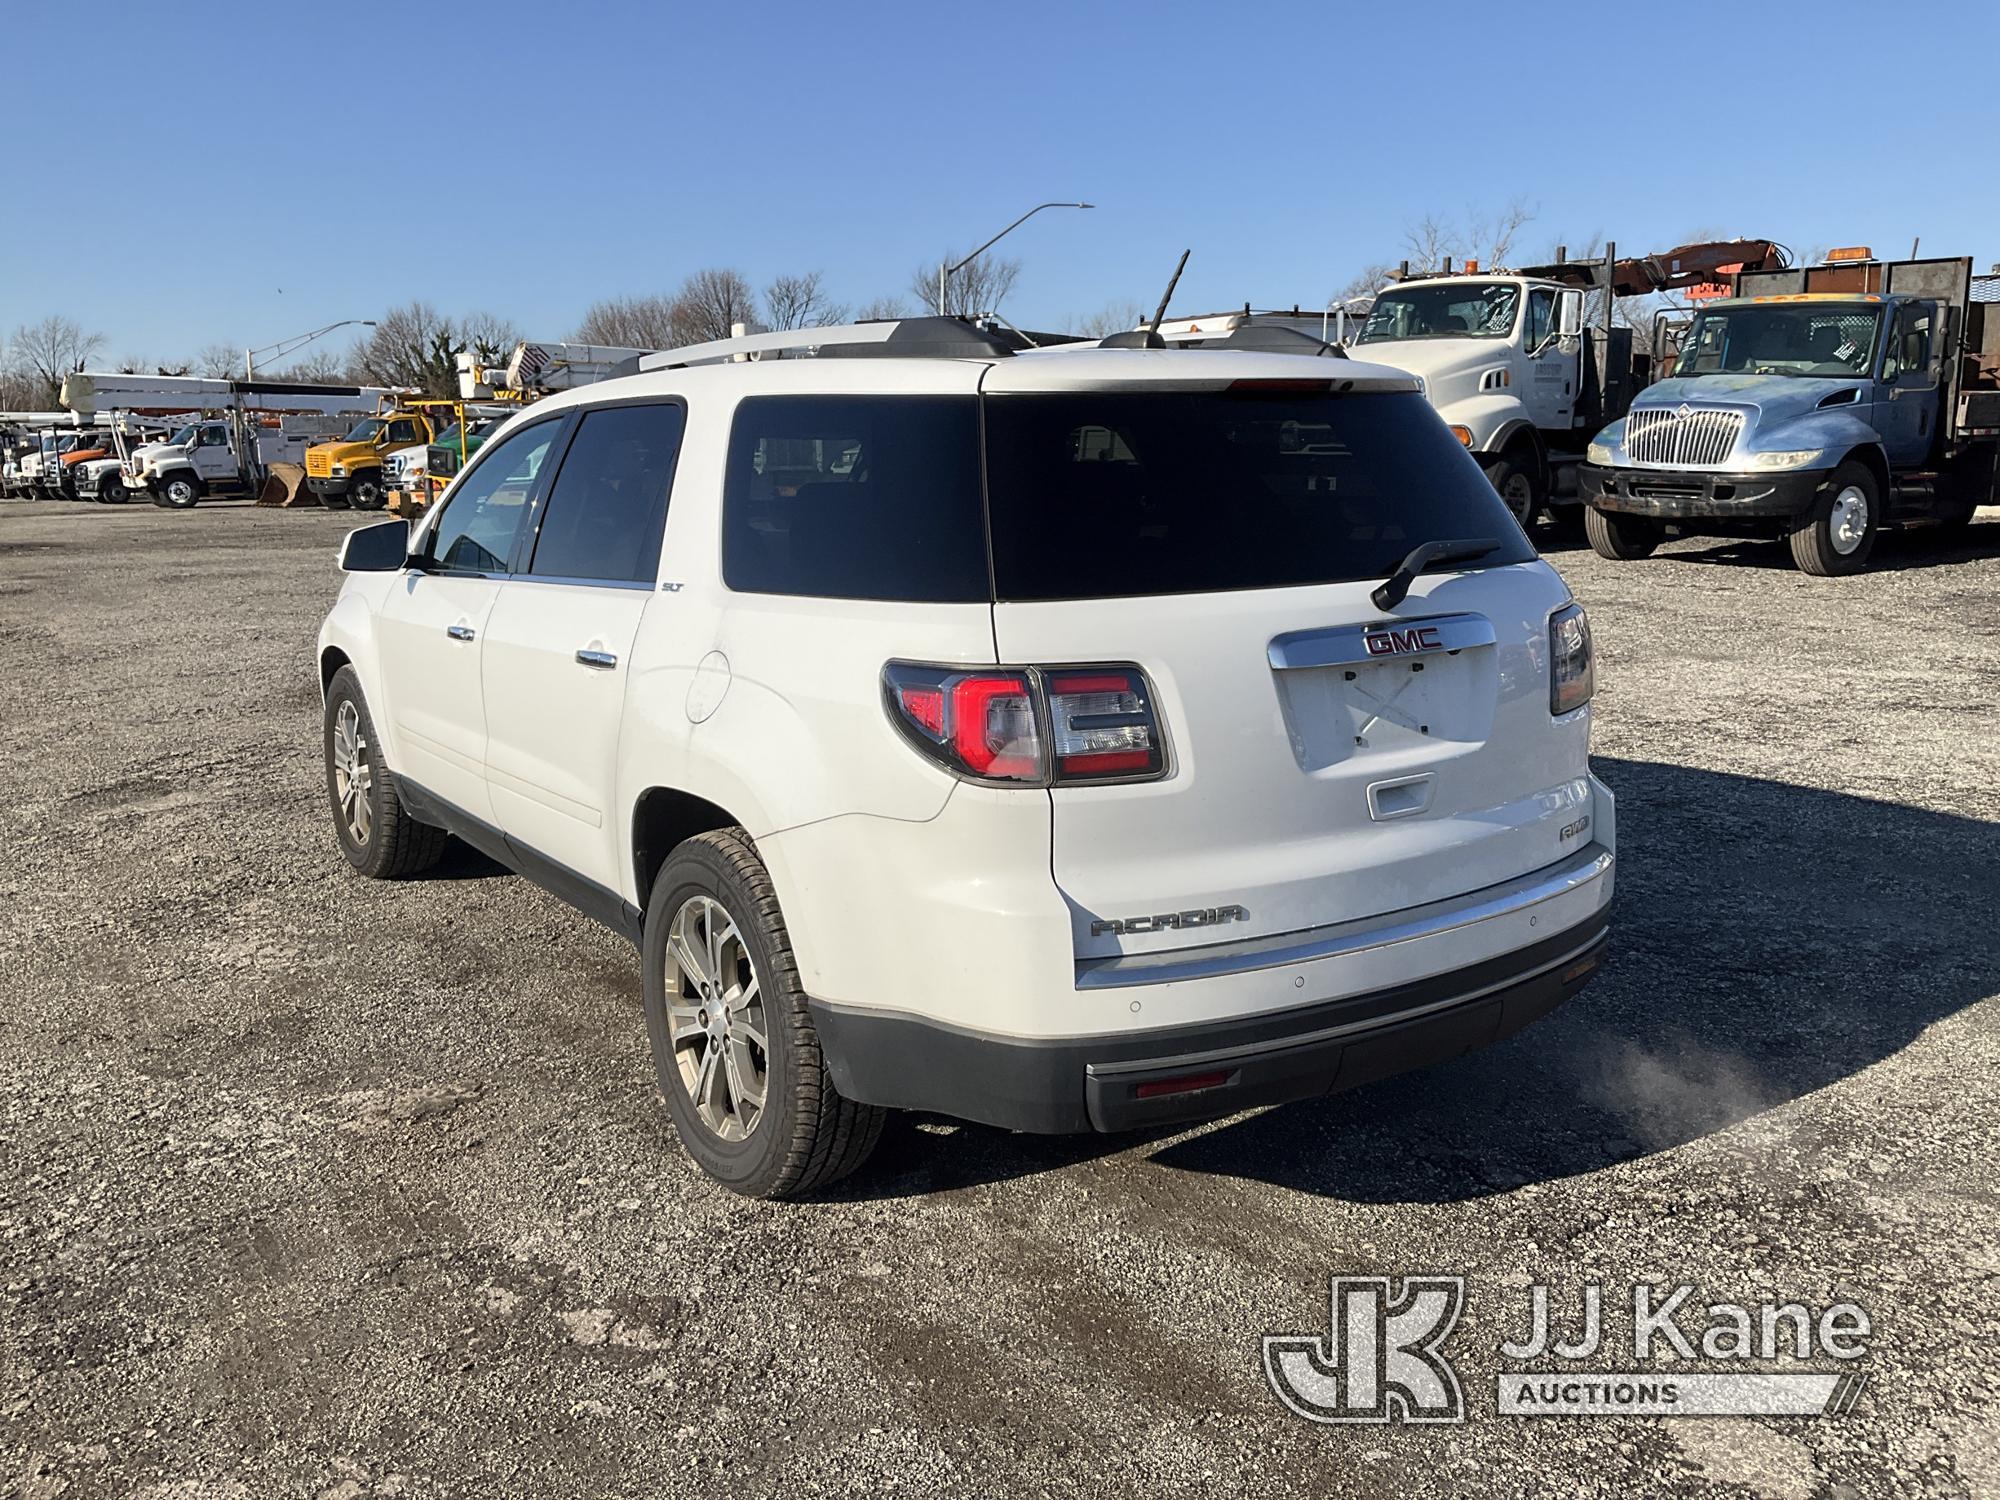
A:
<svg viewBox="0 0 2000 1500">
<path fill-rule="evenodd" d="M 1540 1026 L 1166 1136 L 902 1120 L 804 1206 L 678 1152 L 618 938 L 340 860 L 352 524 L 0 506 L 0 1492 L 2000 1494 L 1994 512 L 1854 580 L 1558 548 L 1620 924 Z M 1278 1406 L 1262 1334 L 1426 1270 L 1464 1426 Z M 1858 1300 L 1870 1384 L 1494 1416 L 1524 1288 L 1584 1280 Z"/>
</svg>

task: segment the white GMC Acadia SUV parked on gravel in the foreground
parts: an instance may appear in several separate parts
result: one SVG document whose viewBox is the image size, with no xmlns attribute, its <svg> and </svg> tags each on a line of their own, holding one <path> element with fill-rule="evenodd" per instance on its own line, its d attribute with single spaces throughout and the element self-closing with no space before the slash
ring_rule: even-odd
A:
<svg viewBox="0 0 2000 1500">
<path fill-rule="evenodd" d="M 1410 376 L 800 338 L 514 416 L 320 632 L 348 860 L 456 834 L 630 934 L 714 1178 L 1312 1098 L 1582 988 L 1590 632 Z"/>
</svg>

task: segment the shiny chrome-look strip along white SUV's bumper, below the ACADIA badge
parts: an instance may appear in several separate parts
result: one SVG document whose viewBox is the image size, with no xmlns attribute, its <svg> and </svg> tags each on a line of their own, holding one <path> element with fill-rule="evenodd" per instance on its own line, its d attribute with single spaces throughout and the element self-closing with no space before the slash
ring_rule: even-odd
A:
<svg viewBox="0 0 2000 1500">
<path fill-rule="evenodd" d="M 1370 948 L 1396 942 L 1434 938 L 1440 932 L 1488 922 L 1496 916 L 1524 912 L 1556 896 L 1602 880 L 1612 868 L 1612 852 L 1602 844 L 1586 844 L 1570 858 L 1532 870 L 1498 886 L 1472 890 L 1450 900 L 1410 906 L 1402 912 L 1364 916 L 1354 922 L 1334 922 L 1304 932 L 1280 932 L 1242 942 L 1216 942 L 1202 948 L 1170 948 L 1152 954 L 1116 954 L 1112 958 L 1076 960 L 1078 990 L 1116 990 L 1132 984 L 1174 984 L 1178 980 L 1212 980 L 1222 974 L 1250 974 L 1260 968 L 1316 964 L 1322 958 L 1348 958 Z"/>
</svg>

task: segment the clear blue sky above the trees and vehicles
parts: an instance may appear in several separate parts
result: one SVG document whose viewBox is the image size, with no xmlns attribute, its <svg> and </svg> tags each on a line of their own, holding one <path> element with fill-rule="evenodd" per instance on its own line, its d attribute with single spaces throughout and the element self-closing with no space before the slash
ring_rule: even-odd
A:
<svg viewBox="0 0 2000 1500">
<path fill-rule="evenodd" d="M 1006 242 L 1024 326 L 1150 306 L 1186 246 L 1176 310 L 1324 302 L 1426 212 L 1510 200 L 1534 256 L 2000 260 L 1984 2 L 94 4 L 82 70 L 78 14 L 4 28 L 0 332 L 60 312 L 110 360 L 410 298 L 560 338 L 716 264 L 866 302 L 1046 198 L 1098 208 Z"/>
</svg>

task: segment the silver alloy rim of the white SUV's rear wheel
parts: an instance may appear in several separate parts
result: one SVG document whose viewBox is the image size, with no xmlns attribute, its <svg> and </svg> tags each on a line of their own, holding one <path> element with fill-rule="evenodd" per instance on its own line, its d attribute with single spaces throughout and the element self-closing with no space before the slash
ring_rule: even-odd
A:
<svg viewBox="0 0 2000 1500">
<path fill-rule="evenodd" d="M 770 1044 L 756 962 L 736 918 L 690 896 L 666 934 L 666 1024 L 680 1086 L 720 1140 L 746 1140 L 764 1118 Z"/>
</svg>

